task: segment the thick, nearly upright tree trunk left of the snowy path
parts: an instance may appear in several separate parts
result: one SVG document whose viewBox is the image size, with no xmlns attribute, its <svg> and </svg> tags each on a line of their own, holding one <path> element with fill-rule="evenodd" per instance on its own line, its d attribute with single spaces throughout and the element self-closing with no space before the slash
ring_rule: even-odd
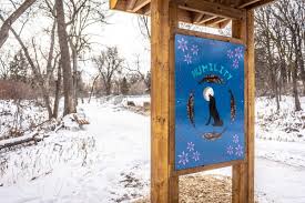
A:
<svg viewBox="0 0 305 203">
<path fill-rule="evenodd" d="M 63 75 L 63 95 L 64 111 L 63 114 L 75 113 L 75 103 L 73 99 L 73 78 L 71 71 L 71 60 L 68 45 L 68 34 L 65 30 L 64 10 L 62 0 L 57 0 L 58 35 L 61 51 L 61 67 Z"/>
</svg>

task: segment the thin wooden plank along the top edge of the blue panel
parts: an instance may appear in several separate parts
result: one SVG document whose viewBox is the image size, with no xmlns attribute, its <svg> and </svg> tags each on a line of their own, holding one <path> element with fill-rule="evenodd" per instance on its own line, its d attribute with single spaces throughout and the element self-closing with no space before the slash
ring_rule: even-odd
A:
<svg viewBox="0 0 305 203">
<path fill-rule="evenodd" d="M 230 38 L 230 37 L 211 34 L 205 32 L 197 32 L 197 31 L 185 30 L 185 29 L 176 29 L 175 32 L 181 34 L 186 34 L 186 35 L 195 35 L 199 38 L 207 38 L 207 39 L 221 40 L 221 41 L 231 42 L 231 43 L 245 44 L 245 42 L 238 38 Z"/>
</svg>

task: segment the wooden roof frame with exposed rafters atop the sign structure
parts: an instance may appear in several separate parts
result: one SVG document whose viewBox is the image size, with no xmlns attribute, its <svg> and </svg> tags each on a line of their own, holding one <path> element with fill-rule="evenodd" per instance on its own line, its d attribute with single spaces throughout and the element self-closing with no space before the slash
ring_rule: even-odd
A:
<svg viewBox="0 0 305 203">
<path fill-rule="evenodd" d="M 222 29 L 231 20 L 242 20 L 246 10 L 267 4 L 274 0 L 174 0 L 177 4 L 177 18 L 180 22 Z M 220 3 L 223 2 L 223 3 Z M 231 4 L 230 4 L 231 2 Z M 130 13 L 151 13 L 151 0 L 110 0 L 110 9 Z"/>
</svg>

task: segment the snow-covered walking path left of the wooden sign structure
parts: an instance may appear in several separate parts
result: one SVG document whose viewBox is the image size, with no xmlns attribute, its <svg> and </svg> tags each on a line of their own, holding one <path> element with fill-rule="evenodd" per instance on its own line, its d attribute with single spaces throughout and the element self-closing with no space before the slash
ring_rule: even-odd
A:
<svg viewBox="0 0 305 203">
<path fill-rule="evenodd" d="M 92 135 L 96 143 L 87 164 L 53 165 L 50 174 L 39 179 L 0 186 L 1 203 L 108 203 L 148 193 L 149 118 L 99 103 L 87 105 L 85 111 L 91 122 L 85 131 L 62 130 L 54 136 Z"/>
</svg>

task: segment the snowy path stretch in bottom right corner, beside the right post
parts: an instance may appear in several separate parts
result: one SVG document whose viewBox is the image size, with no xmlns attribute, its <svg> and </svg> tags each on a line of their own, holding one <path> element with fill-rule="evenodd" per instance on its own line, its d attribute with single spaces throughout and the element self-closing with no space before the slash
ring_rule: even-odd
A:
<svg viewBox="0 0 305 203">
<path fill-rule="evenodd" d="M 268 202 L 304 203 L 305 169 L 256 159 L 255 189 Z"/>
</svg>

